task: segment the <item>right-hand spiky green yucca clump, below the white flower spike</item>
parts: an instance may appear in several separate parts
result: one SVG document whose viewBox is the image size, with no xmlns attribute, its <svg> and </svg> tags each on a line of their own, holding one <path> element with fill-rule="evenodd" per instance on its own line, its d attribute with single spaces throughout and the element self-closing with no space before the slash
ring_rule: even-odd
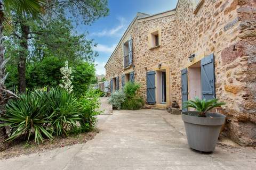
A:
<svg viewBox="0 0 256 170">
<path fill-rule="evenodd" d="M 47 93 L 51 114 L 51 127 L 54 135 L 68 135 L 67 131 L 77 126 L 81 120 L 82 108 L 76 96 L 61 88 L 52 88 Z"/>
</svg>

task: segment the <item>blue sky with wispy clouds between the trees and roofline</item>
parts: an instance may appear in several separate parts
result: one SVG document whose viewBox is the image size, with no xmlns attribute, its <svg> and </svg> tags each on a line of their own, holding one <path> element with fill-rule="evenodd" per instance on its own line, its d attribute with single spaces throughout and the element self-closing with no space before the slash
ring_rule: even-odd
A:
<svg viewBox="0 0 256 170">
<path fill-rule="evenodd" d="M 109 15 L 100 18 L 90 26 L 80 25 L 77 31 L 89 31 L 87 38 L 98 44 L 94 48 L 99 53 L 95 58 L 97 74 L 105 74 L 104 66 L 115 49 L 124 31 L 137 12 L 155 14 L 175 8 L 178 0 L 109 0 Z"/>
</svg>

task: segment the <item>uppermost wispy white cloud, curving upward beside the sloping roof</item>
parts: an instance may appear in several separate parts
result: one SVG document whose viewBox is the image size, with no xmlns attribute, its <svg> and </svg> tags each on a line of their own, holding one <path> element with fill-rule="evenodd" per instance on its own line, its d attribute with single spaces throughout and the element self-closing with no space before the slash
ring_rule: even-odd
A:
<svg viewBox="0 0 256 170">
<path fill-rule="evenodd" d="M 122 36 L 123 29 L 126 27 L 126 20 L 123 17 L 117 18 L 119 21 L 119 24 L 110 29 L 110 30 L 102 30 L 101 32 L 93 32 L 91 35 L 92 36 L 98 36 L 98 37 L 103 37 L 103 36 Z"/>
</svg>

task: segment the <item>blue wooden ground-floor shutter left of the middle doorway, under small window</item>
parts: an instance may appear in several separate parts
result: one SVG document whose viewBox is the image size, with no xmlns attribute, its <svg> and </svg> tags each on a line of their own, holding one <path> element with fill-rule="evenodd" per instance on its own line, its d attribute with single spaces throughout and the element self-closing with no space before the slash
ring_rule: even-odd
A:
<svg viewBox="0 0 256 170">
<path fill-rule="evenodd" d="M 147 72 L 147 103 L 156 103 L 155 71 Z"/>
</svg>

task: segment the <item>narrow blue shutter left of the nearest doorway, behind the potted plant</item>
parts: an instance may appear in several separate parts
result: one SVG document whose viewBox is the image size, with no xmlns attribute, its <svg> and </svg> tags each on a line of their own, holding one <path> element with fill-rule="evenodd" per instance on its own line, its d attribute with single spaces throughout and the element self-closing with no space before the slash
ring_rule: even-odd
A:
<svg viewBox="0 0 256 170">
<path fill-rule="evenodd" d="M 181 70 L 181 94 L 182 94 L 182 111 L 188 111 L 188 108 L 183 108 L 184 101 L 188 100 L 188 70 Z"/>
</svg>

